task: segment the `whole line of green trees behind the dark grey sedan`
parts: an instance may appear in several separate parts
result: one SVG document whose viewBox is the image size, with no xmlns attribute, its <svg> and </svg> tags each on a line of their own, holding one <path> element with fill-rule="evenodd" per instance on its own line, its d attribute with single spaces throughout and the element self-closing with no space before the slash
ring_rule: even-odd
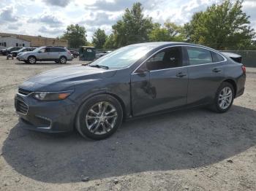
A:
<svg viewBox="0 0 256 191">
<path fill-rule="evenodd" d="M 139 2 L 125 9 L 121 20 L 112 26 L 107 35 L 103 29 L 94 31 L 92 42 L 86 39 L 86 28 L 70 25 L 61 36 L 69 47 L 93 45 L 98 49 L 116 49 L 140 42 L 190 42 L 217 50 L 256 50 L 255 31 L 249 26 L 249 15 L 242 11 L 243 1 L 225 0 L 212 4 L 206 11 L 195 12 L 183 26 L 166 20 L 164 25 L 154 23 L 143 15 Z"/>
</svg>

